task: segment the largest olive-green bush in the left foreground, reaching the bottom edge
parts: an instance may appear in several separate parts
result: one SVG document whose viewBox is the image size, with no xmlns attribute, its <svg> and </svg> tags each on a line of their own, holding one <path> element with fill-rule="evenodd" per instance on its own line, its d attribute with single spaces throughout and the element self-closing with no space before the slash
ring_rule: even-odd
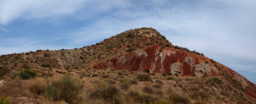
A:
<svg viewBox="0 0 256 104">
<path fill-rule="evenodd" d="M 63 77 L 58 80 L 53 80 L 50 85 L 46 86 L 44 96 L 50 100 L 64 100 L 67 103 L 74 103 L 81 90 L 79 80 Z"/>
</svg>

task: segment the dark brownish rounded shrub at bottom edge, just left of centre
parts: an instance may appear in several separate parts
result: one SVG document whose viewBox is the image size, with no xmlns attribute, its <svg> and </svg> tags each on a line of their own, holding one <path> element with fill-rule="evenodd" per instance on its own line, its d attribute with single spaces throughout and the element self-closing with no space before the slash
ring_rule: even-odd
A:
<svg viewBox="0 0 256 104">
<path fill-rule="evenodd" d="M 89 98 L 92 100 L 102 99 L 108 101 L 109 103 L 119 104 L 121 103 L 119 90 L 113 85 L 108 86 L 105 89 L 97 89 L 90 93 Z"/>
</svg>

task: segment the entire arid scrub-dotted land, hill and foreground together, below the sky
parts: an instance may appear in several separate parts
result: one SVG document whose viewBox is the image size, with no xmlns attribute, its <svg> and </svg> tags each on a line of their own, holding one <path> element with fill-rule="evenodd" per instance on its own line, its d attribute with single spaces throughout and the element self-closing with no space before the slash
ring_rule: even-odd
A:
<svg viewBox="0 0 256 104">
<path fill-rule="evenodd" d="M 256 103 L 256 85 L 152 28 L 96 45 L 0 57 L 0 104 Z"/>
</svg>

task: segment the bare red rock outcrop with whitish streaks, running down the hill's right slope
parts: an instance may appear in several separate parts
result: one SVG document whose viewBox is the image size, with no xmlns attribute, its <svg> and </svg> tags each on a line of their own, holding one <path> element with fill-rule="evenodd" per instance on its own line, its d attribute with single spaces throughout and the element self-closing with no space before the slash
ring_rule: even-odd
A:
<svg viewBox="0 0 256 104">
<path fill-rule="evenodd" d="M 118 70 L 148 71 L 160 74 L 178 74 L 189 76 L 216 76 L 225 79 L 221 73 L 235 76 L 233 81 L 239 82 L 248 96 L 256 98 L 256 87 L 246 78 L 230 68 L 212 61 L 204 56 L 185 52 L 174 47 L 162 48 L 160 45 L 137 49 L 134 52 L 119 55 L 108 61 L 96 63 L 97 68 L 113 68 Z M 218 68 L 218 67 L 221 68 Z M 239 85 L 238 84 L 238 85 Z"/>
</svg>

